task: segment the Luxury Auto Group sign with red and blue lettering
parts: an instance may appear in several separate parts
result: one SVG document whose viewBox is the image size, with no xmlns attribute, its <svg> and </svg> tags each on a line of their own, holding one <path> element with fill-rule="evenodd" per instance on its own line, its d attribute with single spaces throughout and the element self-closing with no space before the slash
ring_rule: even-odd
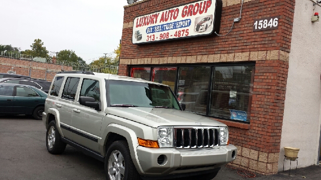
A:
<svg viewBox="0 0 321 180">
<path fill-rule="evenodd" d="M 221 8 L 222 0 L 199 0 L 138 16 L 133 22 L 132 43 L 212 34 L 216 29 L 215 20 L 220 20 L 215 15 L 221 13 Z"/>
</svg>

